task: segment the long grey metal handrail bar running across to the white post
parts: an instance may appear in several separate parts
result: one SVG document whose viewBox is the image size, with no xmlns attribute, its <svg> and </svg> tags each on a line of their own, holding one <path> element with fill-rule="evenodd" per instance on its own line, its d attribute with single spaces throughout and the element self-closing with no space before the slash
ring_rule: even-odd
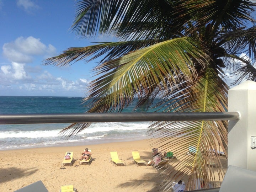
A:
<svg viewBox="0 0 256 192">
<path fill-rule="evenodd" d="M 238 112 L 0 114 L 0 124 L 238 120 Z"/>
</svg>

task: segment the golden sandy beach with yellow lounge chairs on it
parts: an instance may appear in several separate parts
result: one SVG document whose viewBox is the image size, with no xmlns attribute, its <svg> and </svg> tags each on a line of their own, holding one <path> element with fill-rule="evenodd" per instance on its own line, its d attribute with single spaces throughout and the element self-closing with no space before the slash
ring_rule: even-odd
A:
<svg viewBox="0 0 256 192">
<path fill-rule="evenodd" d="M 92 149 L 91 165 L 79 165 L 85 148 Z M 145 161 L 151 159 L 147 140 L 87 146 L 63 146 L 0 151 L 0 188 L 15 191 L 41 180 L 49 192 L 59 192 L 62 185 L 74 185 L 84 191 L 162 191 L 161 170 L 153 166 L 135 166 L 132 150 Z M 60 169 L 66 151 L 74 152 L 73 165 Z M 113 166 L 110 151 L 117 151 L 126 166 Z M 176 160 L 178 162 L 178 159 Z M 223 158 L 223 166 L 226 160 Z"/>
</svg>

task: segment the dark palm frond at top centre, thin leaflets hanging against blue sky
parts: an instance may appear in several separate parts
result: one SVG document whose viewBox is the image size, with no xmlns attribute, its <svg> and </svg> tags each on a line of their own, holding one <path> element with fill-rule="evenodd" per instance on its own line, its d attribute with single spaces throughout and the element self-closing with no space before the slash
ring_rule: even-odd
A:
<svg viewBox="0 0 256 192">
<path fill-rule="evenodd" d="M 174 6 L 178 2 L 80 0 L 72 30 L 80 37 L 111 33 L 126 41 L 172 35 L 188 21 L 176 19 L 179 14 L 174 14 Z"/>
</svg>

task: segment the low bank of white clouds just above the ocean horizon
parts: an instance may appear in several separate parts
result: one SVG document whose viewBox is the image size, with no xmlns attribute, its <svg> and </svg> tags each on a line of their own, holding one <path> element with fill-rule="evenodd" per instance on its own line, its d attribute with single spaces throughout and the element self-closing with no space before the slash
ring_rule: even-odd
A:
<svg viewBox="0 0 256 192">
<path fill-rule="evenodd" d="M 90 82 L 86 79 L 69 80 L 54 77 L 48 71 L 40 70 L 26 73 L 25 64 L 2 65 L 0 70 L 0 92 L 15 91 L 17 95 L 32 96 L 85 96 L 84 87 Z M 33 70 L 32 70 L 33 71 Z"/>
</svg>

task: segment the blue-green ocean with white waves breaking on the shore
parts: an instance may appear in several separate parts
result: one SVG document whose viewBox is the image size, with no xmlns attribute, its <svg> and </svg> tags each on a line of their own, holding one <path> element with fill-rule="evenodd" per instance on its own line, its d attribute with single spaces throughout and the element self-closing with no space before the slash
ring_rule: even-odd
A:
<svg viewBox="0 0 256 192">
<path fill-rule="evenodd" d="M 83 97 L 0 96 L 0 113 L 84 113 Z M 132 106 L 123 112 L 132 112 Z M 154 110 L 155 111 L 155 110 Z M 149 111 L 149 112 L 153 112 Z M 69 123 L 0 124 L 0 150 L 102 144 L 148 139 L 150 122 L 92 123 L 79 134 L 65 139 L 60 130 Z"/>
</svg>

